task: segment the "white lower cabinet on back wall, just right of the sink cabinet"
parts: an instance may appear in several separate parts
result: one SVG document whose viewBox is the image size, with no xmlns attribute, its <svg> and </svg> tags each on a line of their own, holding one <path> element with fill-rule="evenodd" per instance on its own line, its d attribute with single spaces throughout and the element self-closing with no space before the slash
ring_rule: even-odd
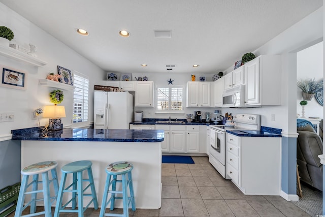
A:
<svg viewBox="0 0 325 217">
<path fill-rule="evenodd" d="M 200 126 L 186 126 L 186 152 L 199 153 L 200 151 Z"/>
</svg>

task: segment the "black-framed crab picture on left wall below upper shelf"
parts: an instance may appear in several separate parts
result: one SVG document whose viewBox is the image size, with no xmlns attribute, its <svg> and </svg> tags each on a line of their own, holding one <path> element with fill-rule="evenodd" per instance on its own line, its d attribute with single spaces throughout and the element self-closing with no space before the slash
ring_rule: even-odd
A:
<svg viewBox="0 0 325 217">
<path fill-rule="evenodd" d="M 26 89 L 27 84 L 27 72 L 22 70 L 16 70 L 7 66 L 1 66 L 1 86 Z"/>
</svg>

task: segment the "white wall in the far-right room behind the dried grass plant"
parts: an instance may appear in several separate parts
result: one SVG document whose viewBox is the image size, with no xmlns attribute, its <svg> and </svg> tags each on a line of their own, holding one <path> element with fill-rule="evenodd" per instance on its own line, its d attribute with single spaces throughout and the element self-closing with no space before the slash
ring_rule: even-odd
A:
<svg viewBox="0 0 325 217">
<path fill-rule="evenodd" d="M 323 42 L 315 44 L 297 53 L 297 80 L 323 79 Z M 302 115 L 300 102 L 303 100 L 301 89 L 297 87 L 297 113 Z M 323 107 L 313 97 L 305 106 L 305 117 L 323 118 Z"/>
</svg>

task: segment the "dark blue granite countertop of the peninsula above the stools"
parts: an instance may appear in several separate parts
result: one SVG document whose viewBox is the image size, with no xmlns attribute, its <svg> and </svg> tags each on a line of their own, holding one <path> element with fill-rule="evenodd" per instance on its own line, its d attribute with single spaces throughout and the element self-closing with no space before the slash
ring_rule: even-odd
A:
<svg viewBox="0 0 325 217">
<path fill-rule="evenodd" d="M 163 130 L 63 129 L 42 133 L 39 128 L 12 131 L 12 140 L 91 141 L 91 142 L 161 142 Z"/>
</svg>

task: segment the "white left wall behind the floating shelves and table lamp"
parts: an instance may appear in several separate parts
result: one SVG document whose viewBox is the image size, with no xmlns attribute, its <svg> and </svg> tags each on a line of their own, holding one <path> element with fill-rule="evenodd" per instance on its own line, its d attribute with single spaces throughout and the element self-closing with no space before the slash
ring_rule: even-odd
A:
<svg viewBox="0 0 325 217">
<path fill-rule="evenodd" d="M 0 122 L 0 137 L 9 135 L 14 129 L 38 126 L 38 120 L 32 119 L 32 111 L 45 105 L 51 105 L 48 95 L 55 89 L 40 86 L 38 80 L 46 78 L 50 72 L 57 74 L 57 66 L 62 66 L 71 71 L 76 70 L 89 77 L 89 102 L 91 104 L 89 118 L 92 120 L 93 85 L 96 80 L 103 80 L 103 70 L 2 3 L 0 3 L 0 12 L 0 25 L 9 27 L 15 34 L 12 43 L 23 45 L 26 48 L 28 48 L 29 43 L 36 45 L 38 48 L 37 58 L 47 62 L 46 66 L 38 68 L 0 55 L 2 65 L 28 72 L 26 90 L 0 87 L 0 112 L 15 113 L 15 121 Z M 67 114 L 66 118 L 62 118 L 63 126 L 71 126 L 73 90 L 63 90 L 63 92 L 64 100 L 60 105 L 66 107 Z M 48 122 L 48 118 L 41 118 L 40 121 L 41 126 L 44 126 Z"/>
</svg>

